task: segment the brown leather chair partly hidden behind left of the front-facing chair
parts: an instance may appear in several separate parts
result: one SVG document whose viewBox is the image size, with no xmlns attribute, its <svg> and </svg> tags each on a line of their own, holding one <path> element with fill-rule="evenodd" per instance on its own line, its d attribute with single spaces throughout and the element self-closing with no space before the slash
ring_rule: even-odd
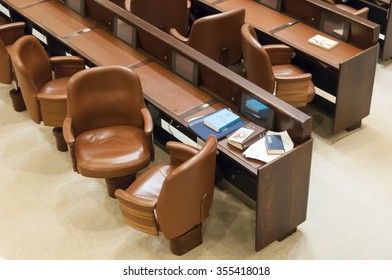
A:
<svg viewBox="0 0 392 280">
<path fill-rule="evenodd" d="M 76 56 L 49 58 L 32 35 L 15 42 L 11 58 L 31 119 L 54 127 L 57 149 L 67 151 L 61 129 L 67 115 L 67 82 L 70 76 L 84 69 L 84 60 Z"/>
</svg>

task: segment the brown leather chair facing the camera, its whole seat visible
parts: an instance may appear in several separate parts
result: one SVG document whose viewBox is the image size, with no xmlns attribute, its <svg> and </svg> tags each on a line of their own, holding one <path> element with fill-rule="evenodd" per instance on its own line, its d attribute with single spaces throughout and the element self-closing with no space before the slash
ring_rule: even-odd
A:
<svg viewBox="0 0 392 280">
<path fill-rule="evenodd" d="M 153 121 L 139 76 L 121 66 L 80 71 L 69 80 L 67 101 L 63 129 L 73 168 L 105 178 L 114 197 L 154 158 Z"/>
</svg>

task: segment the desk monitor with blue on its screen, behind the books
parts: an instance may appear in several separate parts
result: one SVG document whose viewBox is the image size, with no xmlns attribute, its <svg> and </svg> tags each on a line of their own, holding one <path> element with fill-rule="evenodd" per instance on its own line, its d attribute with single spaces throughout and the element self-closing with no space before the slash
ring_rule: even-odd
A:
<svg viewBox="0 0 392 280">
<path fill-rule="evenodd" d="M 240 112 L 255 124 L 265 129 L 273 130 L 275 112 L 272 108 L 265 105 L 260 98 L 243 92 Z"/>
</svg>

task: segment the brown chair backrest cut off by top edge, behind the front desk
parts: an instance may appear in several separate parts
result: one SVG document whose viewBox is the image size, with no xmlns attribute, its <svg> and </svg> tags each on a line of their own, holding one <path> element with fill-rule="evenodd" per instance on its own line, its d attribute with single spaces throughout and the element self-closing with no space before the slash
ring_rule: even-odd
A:
<svg viewBox="0 0 392 280">
<path fill-rule="evenodd" d="M 188 33 L 187 0 L 132 0 L 130 11 L 165 32 L 175 28 L 183 36 Z"/>
</svg>

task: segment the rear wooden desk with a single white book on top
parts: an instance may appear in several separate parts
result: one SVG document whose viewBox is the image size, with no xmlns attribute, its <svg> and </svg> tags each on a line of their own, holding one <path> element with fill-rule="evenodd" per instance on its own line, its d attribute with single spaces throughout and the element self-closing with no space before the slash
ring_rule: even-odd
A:
<svg viewBox="0 0 392 280">
<path fill-rule="evenodd" d="M 292 5 L 289 6 L 290 9 L 296 7 L 298 12 L 304 12 L 301 10 L 302 6 L 295 6 L 300 4 L 321 9 L 317 6 L 319 3 L 314 6 L 307 0 L 285 0 L 284 4 L 288 3 Z M 284 24 L 280 27 L 278 27 L 279 24 L 271 26 L 269 22 L 284 23 L 283 15 L 252 0 L 223 0 L 212 5 L 204 0 L 194 0 L 193 5 L 196 9 L 198 6 L 208 5 L 210 9 L 217 11 L 243 7 L 247 12 L 250 11 L 249 15 L 247 13 L 245 16 L 246 21 L 256 28 L 262 44 L 284 43 L 292 47 L 296 53 L 293 62 L 312 73 L 312 80 L 316 87 L 331 95 L 330 98 L 325 98 L 325 96 L 318 95 L 316 91 L 312 106 L 319 108 L 333 119 L 331 131 L 333 134 L 358 128 L 362 119 L 369 114 L 377 64 L 377 43 L 363 49 L 334 39 L 339 42 L 339 45 L 326 51 L 309 44 L 307 40 L 316 34 L 329 38 L 332 38 L 331 36 L 303 23 L 288 26 Z M 325 3 L 320 4 L 321 7 L 324 7 L 323 5 Z M 320 13 L 321 10 L 319 10 Z M 311 17 L 311 15 L 306 15 Z M 291 21 L 289 17 L 286 17 L 287 20 Z M 313 19 L 313 21 L 316 20 Z M 365 27 L 370 33 L 376 32 L 372 25 L 369 28 L 367 25 Z M 371 33 L 369 42 L 372 40 L 373 33 Z M 369 42 L 366 41 L 366 44 L 370 44 Z"/>
</svg>

